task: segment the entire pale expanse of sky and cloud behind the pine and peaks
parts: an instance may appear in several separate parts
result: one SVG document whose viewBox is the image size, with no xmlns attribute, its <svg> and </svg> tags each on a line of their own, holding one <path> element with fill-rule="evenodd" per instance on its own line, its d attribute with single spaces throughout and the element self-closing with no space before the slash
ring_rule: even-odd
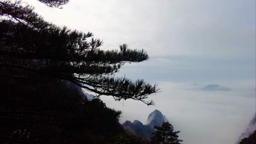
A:
<svg viewBox="0 0 256 144">
<path fill-rule="evenodd" d="M 123 111 L 121 123 L 145 123 L 158 109 L 183 144 L 234 144 L 255 114 L 255 0 L 70 0 L 63 9 L 24 1 L 47 21 L 94 33 L 102 49 L 148 52 L 116 76 L 158 84 L 156 106 L 101 97 Z M 210 84 L 230 90 L 203 90 Z"/>
</svg>

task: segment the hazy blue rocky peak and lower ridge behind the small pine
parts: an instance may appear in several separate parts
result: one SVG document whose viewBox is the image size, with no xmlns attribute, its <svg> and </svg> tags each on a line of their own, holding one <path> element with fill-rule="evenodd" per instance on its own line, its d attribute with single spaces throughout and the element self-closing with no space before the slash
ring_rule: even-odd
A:
<svg viewBox="0 0 256 144">
<path fill-rule="evenodd" d="M 150 140 L 152 132 L 155 132 L 153 127 L 161 126 L 163 122 L 167 122 L 165 116 L 163 116 L 161 111 L 154 110 L 149 114 L 146 125 L 143 125 L 143 123 L 138 120 L 134 120 L 133 122 L 127 120 L 122 124 L 122 126 L 125 131 L 138 135 L 144 140 Z"/>
</svg>

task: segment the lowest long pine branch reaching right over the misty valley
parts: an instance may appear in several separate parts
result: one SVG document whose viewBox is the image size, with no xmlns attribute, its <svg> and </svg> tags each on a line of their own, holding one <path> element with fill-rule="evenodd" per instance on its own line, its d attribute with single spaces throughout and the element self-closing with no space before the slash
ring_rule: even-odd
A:
<svg viewBox="0 0 256 144">
<path fill-rule="evenodd" d="M 147 105 L 153 105 L 154 102 L 152 100 L 145 101 L 148 98 L 148 95 L 159 92 L 157 85 L 150 85 L 149 83 L 145 83 L 144 80 L 137 80 L 135 83 L 126 78 L 114 78 L 114 77 L 86 77 L 86 78 L 77 78 L 70 75 L 54 73 L 52 71 L 40 70 L 36 68 L 31 68 L 27 66 L 15 65 L 15 64 L 2 64 L 0 63 L 0 67 L 3 68 L 18 68 L 22 70 L 33 71 L 39 74 L 43 74 L 41 76 L 51 76 L 63 80 L 68 80 L 82 88 L 87 89 L 88 91 L 95 92 L 99 95 L 111 95 L 115 98 L 115 100 L 120 101 L 121 99 L 134 99 L 138 101 L 142 101 Z M 25 76 L 11 76 L 4 74 L 4 76 L 20 78 L 20 79 L 28 79 Z M 49 78 L 49 77 L 47 77 Z M 92 86 L 93 88 L 89 88 L 88 86 Z"/>
</svg>

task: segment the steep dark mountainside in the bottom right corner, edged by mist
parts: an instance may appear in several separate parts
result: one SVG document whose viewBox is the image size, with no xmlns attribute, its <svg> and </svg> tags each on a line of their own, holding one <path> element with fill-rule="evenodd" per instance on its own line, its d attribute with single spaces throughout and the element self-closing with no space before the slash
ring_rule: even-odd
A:
<svg viewBox="0 0 256 144">
<path fill-rule="evenodd" d="M 245 132 L 243 132 L 240 137 L 238 138 L 238 141 L 235 144 L 239 144 L 240 141 L 244 138 L 248 138 L 250 135 L 253 134 L 253 132 L 256 130 L 256 113 L 253 116 L 253 119 L 250 121 L 247 129 Z M 255 134 L 254 134 L 255 135 Z"/>
</svg>

